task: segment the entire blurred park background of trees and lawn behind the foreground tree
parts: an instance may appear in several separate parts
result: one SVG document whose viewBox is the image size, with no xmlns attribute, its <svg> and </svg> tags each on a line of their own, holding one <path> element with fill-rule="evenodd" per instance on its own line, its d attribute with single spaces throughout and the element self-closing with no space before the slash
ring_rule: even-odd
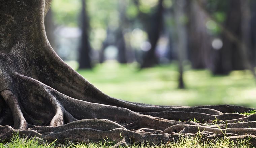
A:
<svg viewBox="0 0 256 148">
<path fill-rule="evenodd" d="M 256 1 L 54 0 L 56 53 L 104 93 L 256 108 Z"/>
</svg>

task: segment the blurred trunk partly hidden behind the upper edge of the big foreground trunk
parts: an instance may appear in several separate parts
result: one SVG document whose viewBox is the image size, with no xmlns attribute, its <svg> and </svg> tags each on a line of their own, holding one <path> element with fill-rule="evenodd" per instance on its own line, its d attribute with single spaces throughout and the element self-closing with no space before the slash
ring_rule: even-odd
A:
<svg viewBox="0 0 256 148">
<path fill-rule="evenodd" d="M 53 12 L 50 8 L 44 20 L 45 31 L 50 45 L 56 50 L 56 40 L 54 36 L 55 25 L 53 22 Z"/>
</svg>

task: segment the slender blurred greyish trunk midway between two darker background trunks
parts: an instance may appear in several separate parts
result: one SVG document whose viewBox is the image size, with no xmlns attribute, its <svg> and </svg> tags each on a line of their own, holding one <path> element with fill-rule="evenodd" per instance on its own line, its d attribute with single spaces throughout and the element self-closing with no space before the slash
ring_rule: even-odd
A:
<svg viewBox="0 0 256 148">
<path fill-rule="evenodd" d="M 127 25 L 126 19 L 126 3 L 124 0 L 118 1 L 118 8 L 119 8 L 119 27 L 116 32 L 116 46 L 118 48 L 118 62 L 119 63 L 127 63 L 126 58 L 126 44 L 124 40 L 124 28 Z"/>
</svg>

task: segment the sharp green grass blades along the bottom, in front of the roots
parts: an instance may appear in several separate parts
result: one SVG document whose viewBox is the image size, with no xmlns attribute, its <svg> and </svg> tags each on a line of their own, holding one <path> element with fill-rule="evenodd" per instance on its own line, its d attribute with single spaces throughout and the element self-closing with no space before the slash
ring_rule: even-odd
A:
<svg viewBox="0 0 256 148">
<path fill-rule="evenodd" d="M 202 135 L 197 134 L 195 136 L 181 138 L 177 141 L 178 137 L 175 137 L 176 142 L 169 142 L 167 145 L 154 146 L 154 148 L 251 148 L 252 145 L 249 143 L 250 139 L 229 141 L 227 137 L 216 138 L 212 141 L 200 142 Z M 68 143 L 66 145 L 56 145 L 55 143 L 50 144 L 39 144 L 34 139 L 23 139 L 18 135 L 14 135 L 10 143 L 0 143 L 0 148 L 107 148 L 112 146 L 113 143 L 109 143 L 109 140 L 105 142 L 96 143 Z M 131 148 L 153 148 L 150 146 L 131 146 Z"/>
</svg>

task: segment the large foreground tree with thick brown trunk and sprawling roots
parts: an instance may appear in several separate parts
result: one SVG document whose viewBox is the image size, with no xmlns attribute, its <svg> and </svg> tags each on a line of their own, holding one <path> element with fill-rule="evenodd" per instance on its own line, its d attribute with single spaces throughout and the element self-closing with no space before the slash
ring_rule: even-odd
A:
<svg viewBox="0 0 256 148">
<path fill-rule="evenodd" d="M 1 0 L 0 142 L 14 132 L 61 143 L 99 142 L 107 136 L 118 142 L 114 147 L 147 141 L 158 145 L 200 131 L 206 139 L 223 133 L 237 134 L 230 139 L 255 137 L 246 135 L 255 134 L 255 122 L 247 122 L 255 121 L 255 116 L 233 113 L 254 110 L 251 108 L 155 106 L 105 95 L 65 64 L 47 41 L 44 16 L 50 3 Z M 178 121 L 189 118 L 217 118 L 225 124 L 209 127 Z M 250 141 L 256 144 L 255 138 Z"/>
</svg>

